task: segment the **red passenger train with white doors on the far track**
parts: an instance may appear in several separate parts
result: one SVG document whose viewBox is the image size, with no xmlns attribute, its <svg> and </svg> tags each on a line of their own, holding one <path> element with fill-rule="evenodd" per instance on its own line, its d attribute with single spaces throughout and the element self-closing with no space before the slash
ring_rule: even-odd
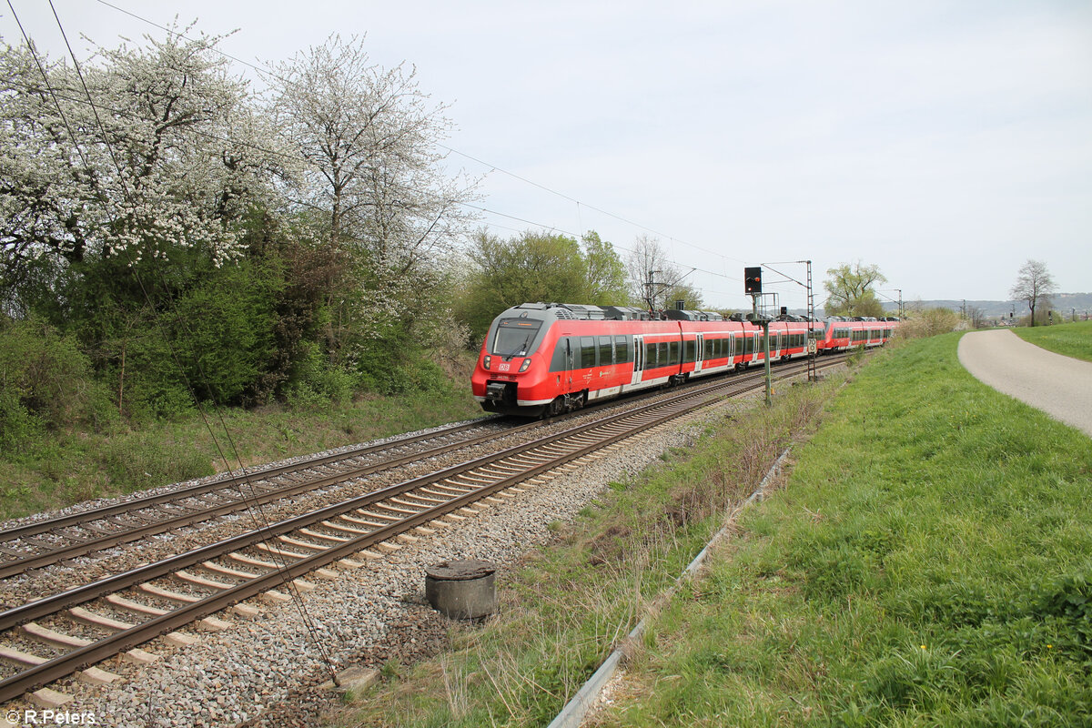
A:
<svg viewBox="0 0 1092 728">
<path fill-rule="evenodd" d="M 691 377 L 740 370 L 764 358 L 762 327 L 707 311 L 651 319 L 630 307 L 523 303 L 494 320 L 474 369 L 474 398 L 488 411 L 537 417 Z M 879 346 L 893 320 L 774 321 L 770 359 L 817 348 Z"/>
</svg>

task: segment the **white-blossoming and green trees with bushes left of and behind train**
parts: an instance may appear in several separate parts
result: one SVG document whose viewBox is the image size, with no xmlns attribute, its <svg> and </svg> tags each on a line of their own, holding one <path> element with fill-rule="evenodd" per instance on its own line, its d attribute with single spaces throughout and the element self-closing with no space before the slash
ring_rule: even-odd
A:
<svg viewBox="0 0 1092 728">
<path fill-rule="evenodd" d="M 332 36 L 257 93 L 192 27 L 94 61 L 0 48 L 0 440 L 428 387 L 524 300 L 697 291 L 654 239 L 475 231 L 411 67 Z M 643 281 L 643 274 L 638 281 Z M 670 284 L 670 285 L 669 285 Z M 79 393 L 79 396 L 76 396 Z"/>
</svg>

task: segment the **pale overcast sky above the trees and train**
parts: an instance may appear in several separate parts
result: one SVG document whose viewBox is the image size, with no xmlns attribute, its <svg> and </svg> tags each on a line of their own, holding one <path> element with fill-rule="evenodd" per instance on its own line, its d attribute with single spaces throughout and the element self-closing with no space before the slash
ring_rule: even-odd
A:
<svg viewBox="0 0 1092 728">
<path fill-rule="evenodd" d="M 487 163 L 450 157 L 488 174 L 482 204 L 511 216 L 483 223 L 595 229 L 622 255 L 658 237 L 712 306 L 749 306 L 745 264 L 805 259 L 817 288 L 860 260 L 906 300 L 1007 299 L 1029 258 L 1092 291 L 1088 0 L 111 2 L 238 28 L 222 49 L 249 62 L 366 34 L 376 63 L 416 65 L 451 105 L 450 146 Z M 12 3 L 61 53 L 48 1 Z M 163 35 L 96 0 L 54 5 L 81 59 L 80 34 Z"/>
</svg>

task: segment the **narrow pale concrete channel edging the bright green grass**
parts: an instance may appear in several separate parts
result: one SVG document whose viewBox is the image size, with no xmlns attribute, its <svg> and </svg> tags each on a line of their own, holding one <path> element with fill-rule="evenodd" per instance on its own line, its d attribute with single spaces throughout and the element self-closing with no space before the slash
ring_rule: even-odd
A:
<svg viewBox="0 0 1092 728">
<path fill-rule="evenodd" d="M 762 482 L 760 482 L 758 488 L 755 489 L 755 492 L 752 492 L 746 501 L 727 514 L 725 525 L 716 532 L 713 538 L 710 539 L 709 544 L 705 545 L 705 548 L 703 548 L 701 552 L 693 558 L 693 561 L 690 562 L 678 580 L 676 580 L 675 585 L 664 594 L 656 597 L 653 601 L 653 610 L 657 610 L 661 606 L 667 604 L 672 596 L 674 596 L 678 590 L 679 585 L 684 582 L 684 580 L 692 578 L 698 573 L 698 570 L 701 569 L 708 560 L 709 552 L 712 548 L 727 536 L 728 526 L 735 522 L 739 512 L 755 501 L 762 500 L 767 486 L 771 480 L 773 480 L 778 472 L 781 469 L 782 463 L 784 463 L 785 458 L 788 456 L 788 451 L 790 447 L 786 447 L 785 451 L 778 456 L 778 460 L 774 461 L 770 470 L 765 474 L 765 477 L 762 478 Z M 640 643 L 640 640 L 644 634 L 644 630 L 648 626 L 648 620 L 649 617 L 645 616 L 640 622 L 637 623 L 637 626 L 634 626 L 633 630 L 626 635 L 621 643 L 614 648 L 610 655 L 603 660 L 600 669 L 597 669 L 592 677 L 587 679 L 587 682 L 585 682 L 583 687 L 577 691 L 577 694 L 573 695 L 572 700 L 570 700 L 563 708 L 561 708 L 561 712 L 557 714 L 557 717 L 550 721 L 547 728 L 580 728 L 580 726 L 583 725 L 584 718 L 587 717 L 587 713 L 598 702 L 603 688 L 617 672 L 618 666 L 621 664 L 622 657 L 626 653 L 626 645 L 636 645 Z"/>
</svg>

